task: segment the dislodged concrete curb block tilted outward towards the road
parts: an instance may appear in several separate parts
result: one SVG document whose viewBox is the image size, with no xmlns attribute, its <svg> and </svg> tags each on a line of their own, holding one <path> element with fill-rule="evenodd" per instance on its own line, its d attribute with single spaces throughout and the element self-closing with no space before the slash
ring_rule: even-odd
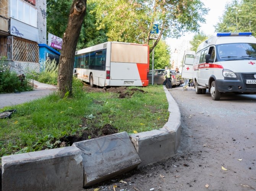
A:
<svg viewBox="0 0 256 191">
<path fill-rule="evenodd" d="M 73 143 L 83 152 L 84 186 L 137 167 L 141 160 L 126 132 Z"/>
</svg>

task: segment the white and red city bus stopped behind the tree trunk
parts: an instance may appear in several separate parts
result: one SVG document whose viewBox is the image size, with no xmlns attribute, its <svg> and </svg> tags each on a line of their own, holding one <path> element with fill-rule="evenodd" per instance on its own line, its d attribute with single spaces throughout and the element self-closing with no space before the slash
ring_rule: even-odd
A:
<svg viewBox="0 0 256 191">
<path fill-rule="evenodd" d="M 148 86 L 149 46 L 105 42 L 76 51 L 74 74 L 94 86 Z"/>
</svg>

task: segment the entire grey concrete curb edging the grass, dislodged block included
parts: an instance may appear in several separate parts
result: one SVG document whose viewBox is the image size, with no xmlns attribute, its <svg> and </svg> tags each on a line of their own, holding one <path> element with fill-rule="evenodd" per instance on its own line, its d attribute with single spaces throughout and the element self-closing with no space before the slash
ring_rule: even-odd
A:
<svg viewBox="0 0 256 191">
<path fill-rule="evenodd" d="M 82 189 L 82 186 L 100 183 L 107 177 L 113 177 L 113 175 L 117 176 L 122 174 L 123 172 L 126 172 L 127 170 L 131 170 L 136 167 L 140 168 L 144 165 L 149 165 L 165 158 L 172 157 L 177 152 L 177 148 L 180 143 L 181 115 L 178 104 L 173 99 L 172 95 L 166 89 L 166 87 L 163 86 L 163 88 L 165 91 L 167 102 L 169 104 L 169 118 L 167 123 L 165 123 L 165 125 L 160 129 L 131 134 L 130 136 L 128 136 L 126 132 L 122 132 L 100 138 L 101 146 L 98 147 L 100 148 L 99 150 L 101 151 L 101 153 L 99 153 L 102 158 L 94 160 L 94 162 L 96 161 L 96 164 L 94 164 L 94 166 L 97 166 L 97 168 L 99 169 L 98 172 L 99 174 L 101 173 L 101 175 L 97 176 L 91 173 L 90 176 L 87 176 L 86 174 L 87 170 L 93 168 L 88 167 L 88 169 L 85 169 L 88 161 L 86 161 L 87 158 L 83 155 L 88 154 L 88 145 L 99 144 L 99 142 L 97 142 L 96 140 L 90 139 L 85 141 L 86 146 L 84 148 L 79 146 L 75 147 L 79 144 L 79 142 L 77 142 L 74 143 L 73 147 L 64 147 L 58 149 L 23 153 L 18 155 L 3 156 L 2 169 L 0 169 L 0 171 L 2 170 L 2 188 L 0 186 L 0 190 L 5 191 L 10 190 L 9 188 L 11 188 L 12 191 L 18 191 L 21 187 L 22 190 L 37 191 L 43 191 L 47 188 L 56 188 L 53 190 L 79 190 L 79 188 Z M 120 146 L 119 143 L 113 145 L 111 142 L 109 142 L 109 140 L 111 141 L 113 139 L 117 139 L 118 136 L 123 134 L 127 135 L 126 141 L 128 142 L 124 142 L 122 139 L 119 139 L 119 141 L 123 143 L 122 146 Z M 132 142 L 132 144 L 130 141 Z M 103 154 L 105 151 L 103 152 L 101 148 L 105 146 L 106 142 L 109 142 L 109 146 L 107 147 L 107 149 L 105 149 L 105 151 L 108 153 Z M 128 159 L 125 154 L 122 154 L 122 152 L 120 152 L 120 149 L 126 151 L 127 149 L 125 150 L 123 146 L 127 145 L 131 145 L 129 147 L 129 153 L 131 157 Z M 118 154 L 121 154 L 124 157 L 121 157 L 122 160 L 117 160 L 119 161 L 118 163 L 112 164 L 118 166 L 117 170 L 109 172 L 109 176 L 107 176 L 107 173 L 100 172 L 100 169 L 106 170 L 106 167 L 109 167 L 106 163 L 110 161 L 109 157 L 120 157 L 120 155 Z M 70 160 L 70 162 L 68 162 L 68 160 Z M 99 160 L 100 162 L 97 162 Z M 72 165 L 70 165 L 70 163 Z M 83 165 L 84 163 L 87 164 Z M 104 163 L 104 166 L 100 166 L 102 163 Z M 26 164 L 26 166 L 24 166 L 23 164 Z M 40 178 L 42 169 L 45 172 L 45 179 Z M 79 173 L 75 173 L 75 171 L 79 171 Z M 52 176 L 52 173 L 54 173 L 54 176 Z M 15 177 L 17 181 L 13 181 L 11 177 Z M 85 181 L 87 180 L 86 178 L 88 180 L 89 178 L 91 178 L 91 182 L 89 181 L 89 183 L 87 184 L 87 181 Z M 60 180 L 62 181 L 62 183 L 60 183 Z M 11 185 L 11 187 L 9 187 L 8 185 Z"/>
</svg>

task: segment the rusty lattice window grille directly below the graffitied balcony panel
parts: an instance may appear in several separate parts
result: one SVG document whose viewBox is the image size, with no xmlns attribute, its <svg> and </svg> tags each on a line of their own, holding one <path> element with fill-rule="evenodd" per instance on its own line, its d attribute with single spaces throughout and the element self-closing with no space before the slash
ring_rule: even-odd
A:
<svg viewBox="0 0 256 191">
<path fill-rule="evenodd" d="M 39 62 L 39 47 L 36 42 L 13 37 L 13 60 L 20 62 Z"/>
</svg>

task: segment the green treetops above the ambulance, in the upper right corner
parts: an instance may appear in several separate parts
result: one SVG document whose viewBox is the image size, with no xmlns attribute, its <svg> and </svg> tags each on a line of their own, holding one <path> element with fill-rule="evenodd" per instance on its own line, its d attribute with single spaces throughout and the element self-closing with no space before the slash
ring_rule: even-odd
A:
<svg viewBox="0 0 256 191">
<path fill-rule="evenodd" d="M 225 7 L 220 22 L 215 27 L 216 32 L 252 32 L 256 34 L 256 0 L 234 0 Z"/>
</svg>

